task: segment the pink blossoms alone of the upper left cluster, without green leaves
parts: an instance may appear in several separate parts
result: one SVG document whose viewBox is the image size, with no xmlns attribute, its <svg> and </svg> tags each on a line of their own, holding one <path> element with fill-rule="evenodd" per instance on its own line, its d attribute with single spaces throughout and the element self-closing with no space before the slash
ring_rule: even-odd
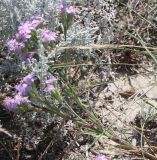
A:
<svg viewBox="0 0 157 160">
<path fill-rule="evenodd" d="M 36 32 L 38 28 L 43 27 L 45 22 L 46 21 L 44 20 L 44 18 L 40 16 L 34 16 L 30 18 L 28 21 L 22 23 L 18 27 L 18 32 L 16 33 L 15 38 L 8 40 L 6 43 L 6 46 L 9 49 L 9 51 L 19 54 L 21 60 L 30 59 L 32 55 L 23 53 L 24 51 L 23 49 L 27 47 L 28 41 L 29 42 L 33 41 L 33 39 L 31 39 L 32 33 Z M 41 40 L 43 43 L 55 41 L 56 38 L 57 38 L 57 35 L 55 32 L 51 32 L 48 29 L 41 30 Z"/>
</svg>

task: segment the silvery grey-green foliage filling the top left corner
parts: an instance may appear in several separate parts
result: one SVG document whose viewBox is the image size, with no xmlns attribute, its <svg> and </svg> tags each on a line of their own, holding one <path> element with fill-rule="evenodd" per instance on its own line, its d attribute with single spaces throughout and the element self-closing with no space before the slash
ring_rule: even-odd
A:
<svg viewBox="0 0 157 160">
<path fill-rule="evenodd" d="M 33 15 L 42 15 L 50 22 L 52 28 L 57 21 L 56 8 L 59 0 L 1 0 L 0 31 L 8 36 L 14 33 L 20 22 Z"/>
</svg>

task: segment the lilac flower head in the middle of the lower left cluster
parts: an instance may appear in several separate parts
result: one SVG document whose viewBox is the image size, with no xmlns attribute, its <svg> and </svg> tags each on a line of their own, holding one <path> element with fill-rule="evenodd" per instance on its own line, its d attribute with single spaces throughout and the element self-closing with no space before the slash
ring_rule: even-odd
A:
<svg viewBox="0 0 157 160">
<path fill-rule="evenodd" d="M 19 84 L 15 88 L 18 91 L 18 94 L 21 96 L 27 96 L 31 91 L 31 87 L 26 83 Z"/>
</svg>

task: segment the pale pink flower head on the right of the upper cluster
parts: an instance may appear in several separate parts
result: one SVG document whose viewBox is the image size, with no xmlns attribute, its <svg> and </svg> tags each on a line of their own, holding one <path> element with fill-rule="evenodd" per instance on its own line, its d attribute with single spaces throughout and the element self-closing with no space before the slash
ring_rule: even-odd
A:
<svg viewBox="0 0 157 160">
<path fill-rule="evenodd" d="M 57 38 L 57 35 L 55 32 L 52 32 L 48 29 L 42 29 L 41 30 L 41 40 L 42 42 L 51 42 L 55 41 Z"/>
</svg>

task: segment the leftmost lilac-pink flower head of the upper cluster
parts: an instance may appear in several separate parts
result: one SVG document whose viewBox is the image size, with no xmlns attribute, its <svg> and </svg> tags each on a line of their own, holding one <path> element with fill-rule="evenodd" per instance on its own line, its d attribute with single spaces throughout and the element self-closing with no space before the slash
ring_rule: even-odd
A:
<svg viewBox="0 0 157 160">
<path fill-rule="evenodd" d="M 7 41 L 6 46 L 8 47 L 9 51 L 16 53 L 21 52 L 21 49 L 25 47 L 24 43 L 20 43 L 16 39 Z"/>
</svg>

